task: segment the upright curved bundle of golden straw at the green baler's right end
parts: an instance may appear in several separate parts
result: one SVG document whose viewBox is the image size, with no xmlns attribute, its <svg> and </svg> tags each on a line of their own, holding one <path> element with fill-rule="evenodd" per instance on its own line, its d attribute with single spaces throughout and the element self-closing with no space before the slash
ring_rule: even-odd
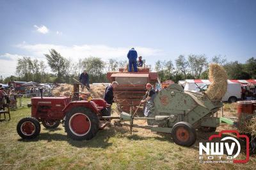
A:
<svg viewBox="0 0 256 170">
<path fill-rule="evenodd" d="M 209 65 L 209 81 L 211 84 L 205 93 L 212 101 L 220 101 L 227 91 L 227 73 L 218 64 Z"/>
</svg>

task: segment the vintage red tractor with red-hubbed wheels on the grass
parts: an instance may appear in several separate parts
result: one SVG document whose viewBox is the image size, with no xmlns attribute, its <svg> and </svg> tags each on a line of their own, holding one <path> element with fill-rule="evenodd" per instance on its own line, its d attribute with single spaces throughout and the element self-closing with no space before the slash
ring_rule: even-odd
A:
<svg viewBox="0 0 256 170">
<path fill-rule="evenodd" d="M 104 121 L 99 126 L 100 118 L 108 116 L 106 107 L 110 105 L 100 98 L 88 97 L 88 100 L 79 100 L 79 92 L 74 93 L 72 100 L 75 101 L 68 97 L 42 97 L 42 93 L 41 97 L 31 98 L 31 117 L 22 118 L 17 125 L 20 137 L 36 137 L 40 133 L 42 122 L 45 128 L 56 128 L 63 123 L 65 132 L 72 139 L 92 139 L 99 128 L 104 128 L 108 123 Z"/>
</svg>

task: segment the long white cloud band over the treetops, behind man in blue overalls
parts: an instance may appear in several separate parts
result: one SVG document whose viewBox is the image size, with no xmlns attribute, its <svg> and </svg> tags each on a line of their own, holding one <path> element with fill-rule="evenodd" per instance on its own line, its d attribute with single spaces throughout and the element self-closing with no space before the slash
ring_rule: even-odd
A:
<svg viewBox="0 0 256 170">
<path fill-rule="evenodd" d="M 55 45 L 47 43 L 39 44 L 28 44 L 22 43 L 17 45 L 20 49 L 24 49 L 28 52 L 31 52 L 31 56 L 42 57 L 44 54 L 48 54 L 50 49 L 55 49 L 57 52 L 60 52 L 61 56 L 65 58 L 73 58 L 75 60 L 79 58 L 86 58 L 90 56 L 100 57 L 103 60 L 116 58 L 116 59 L 127 59 L 127 52 L 129 47 L 109 47 L 107 45 Z M 146 56 L 147 58 L 152 58 L 159 56 L 161 50 L 151 49 L 147 47 L 135 47 L 138 52 L 138 56 Z"/>
</svg>

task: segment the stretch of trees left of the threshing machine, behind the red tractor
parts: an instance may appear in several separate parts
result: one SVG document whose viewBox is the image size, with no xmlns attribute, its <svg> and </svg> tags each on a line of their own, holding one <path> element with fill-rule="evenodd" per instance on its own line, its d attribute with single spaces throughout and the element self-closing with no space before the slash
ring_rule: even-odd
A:
<svg viewBox="0 0 256 170">
<path fill-rule="evenodd" d="M 0 82 L 34 81 L 38 83 L 72 84 L 78 80 L 83 70 L 86 70 L 90 75 L 90 83 L 108 82 L 106 72 L 117 71 L 117 68 L 127 65 L 127 61 L 109 59 L 108 62 L 104 62 L 99 57 L 88 57 L 73 62 L 71 58 L 64 58 L 54 49 L 49 50 L 49 54 L 44 54 L 44 56 L 47 63 L 25 56 L 19 58 L 15 75 L 11 75 L 5 79 L 3 79 L 3 76 L 0 76 Z M 47 67 L 51 68 L 51 72 L 46 72 Z"/>
</svg>

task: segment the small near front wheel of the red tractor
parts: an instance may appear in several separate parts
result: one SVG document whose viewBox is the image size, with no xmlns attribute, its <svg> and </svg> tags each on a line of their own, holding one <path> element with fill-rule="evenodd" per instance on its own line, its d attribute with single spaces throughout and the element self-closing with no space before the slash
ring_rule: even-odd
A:
<svg viewBox="0 0 256 170">
<path fill-rule="evenodd" d="M 41 130 L 38 120 L 33 117 L 23 118 L 17 125 L 17 133 L 24 139 L 32 139 L 36 137 Z"/>
</svg>

